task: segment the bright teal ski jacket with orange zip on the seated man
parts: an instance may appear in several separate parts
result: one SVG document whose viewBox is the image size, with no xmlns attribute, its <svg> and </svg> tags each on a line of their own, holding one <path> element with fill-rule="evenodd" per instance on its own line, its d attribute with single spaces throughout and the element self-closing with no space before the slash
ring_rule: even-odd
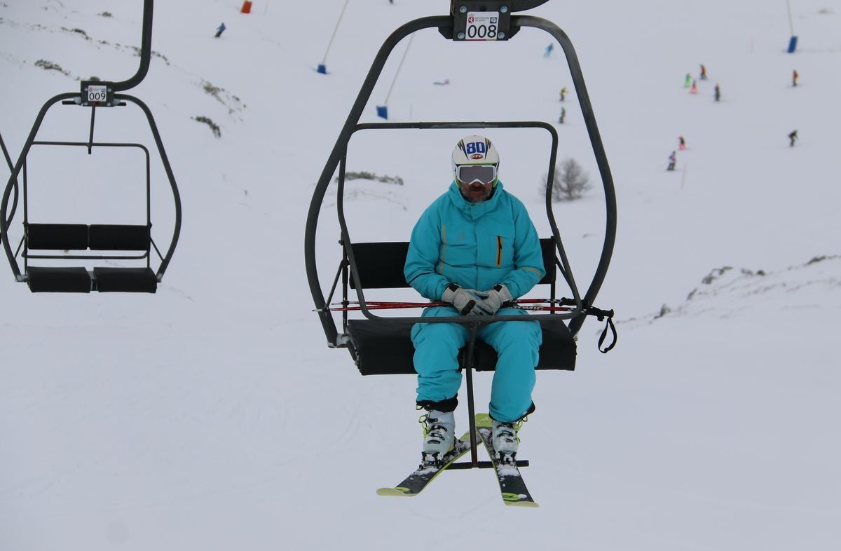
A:
<svg viewBox="0 0 841 551">
<path fill-rule="evenodd" d="M 540 239 L 525 205 L 501 182 L 482 203 L 464 199 L 452 182 L 412 230 L 404 275 L 431 300 L 451 282 L 479 291 L 502 283 L 516 299 L 544 275 Z"/>
</svg>

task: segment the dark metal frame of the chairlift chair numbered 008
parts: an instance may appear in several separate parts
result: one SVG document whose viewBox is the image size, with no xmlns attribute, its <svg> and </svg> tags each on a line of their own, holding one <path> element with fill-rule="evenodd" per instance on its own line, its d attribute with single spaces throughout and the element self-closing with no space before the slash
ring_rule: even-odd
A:
<svg viewBox="0 0 841 551">
<path fill-rule="evenodd" d="M 321 172 L 320 178 L 318 183 L 315 186 L 315 192 L 313 193 L 313 198 L 309 204 L 309 213 L 307 215 L 306 227 L 305 227 L 305 234 L 304 234 L 304 262 L 307 270 L 307 278 L 309 281 L 309 289 L 313 297 L 313 301 L 315 303 L 315 311 L 319 315 L 319 319 L 321 325 L 325 331 L 325 336 L 327 337 L 327 345 L 328 347 L 346 347 L 351 350 L 352 356 L 354 355 L 352 350 L 352 342 L 350 336 L 346 332 L 347 324 L 346 324 L 346 314 L 344 314 L 344 322 L 343 322 L 343 329 L 344 332 L 339 332 L 336 328 L 336 321 L 334 319 L 334 313 L 331 311 L 328 301 L 325 300 L 325 296 L 323 290 L 321 289 L 320 278 L 317 269 L 316 263 L 316 254 L 315 254 L 315 238 L 316 238 L 316 229 L 318 225 L 318 220 L 320 216 L 321 206 L 323 204 L 325 193 L 327 188 L 331 183 L 331 178 L 336 173 L 336 170 L 339 170 L 339 199 L 337 202 L 337 210 L 338 210 L 338 217 L 339 223 L 341 226 L 341 246 L 343 248 L 343 260 L 342 262 L 346 263 L 347 268 L 350 270 L 350 278 L 352 279 L 352 283 L 355 284 L 355 288 L 357 291 L 357 295 L 359 298 L 359 307 L 362 315 L 365 316 L 366 319 L 374 321 L 374 320 L 383 320 L 388 321 L 389 323 L 458 323 L 459 325 L 465 326 L 468 328 L 470 333 L 470 340 L 468 341 L 467 345 L 467 354 L 464 358 L 463 368 L 467 375 L 467 387 L 468 387 L 468 410 L 469 410 L 469 420 L 470 420 L 470 434 L 471 434 L 471 446 L 472 446 L 472 457 L 471 461 L 468 464 L 458 464 L 451 466 L 455 468 L 477 468 L 477 467 L 488 467 L 487 464 L 479 464 L 477 455 L 476 455 L 476 431 L 475 431 L 475 424 L 473 420 L 474 408 L 473 408 L 473 381 L 472 381 L 472 368 L 473 368 L 473 346 L 475 344 L 476 333 L 479 331 L 481 326 L 484 326 L 488 323 L 494 323 L 496 321 L 539 321 L 541 325 L 547 324 L 549 322 L 557 323 L 558 319 L 568 319 L 569 320 L 569 332 L 572 336 L 576 336 L 579 329 L 584 323 L 584 319 L 587 315 L 587 310 L 590 309 L 591 306 L 594 305 L 595 297 L 598 294 L 602 283 L 606 277 L 607 268 L 611 261 L 611 255 L 613 252 L 613 246 L 616 241 L 616 191 L 613 185 L 613 178 L 611 176 L 610 167 L 607 162 L 606 152 L 604 150 L 604 146 L 602 145 L 598 126 L 595 122 L 595 114 L 593 113 L 592 105 L 590 104 L 590 97 L 587 93 L 586 85 L 584 84 L 584 77 L 581 72 L 581 67 L 579 65 L 578 57 L 575 54 L 574 47 L 572 42 L 569 40 L 567 34 L 563 32 L 562 29 L 559 29 L 557 25 L 553 24 L 552 22 L 537 18 L 530 15 L 515 15 L 516 12 L 525 11 L 527 9 L 535 8 L 542 3 L 545 3 L 547 0 L 508 0 L 507 2 L 504 0 L 452 0 L 450 5 L 450 14 L 446 16 L 431 16 L 425 17 L 421 19 L 415 19 L 400 26 L 398 29 L 394 30 L 392 34 L 383 42 L 383 45 L 380 47 L 380 50 L 375 56 L 373 64 L 368 71 L 368 76 L 365 78 L 364 82 L 362 83 L 362 87 L 357 95 L 356 101 L 353 103 L 350 114 L 346 119 L 345 125 L 342 127 L 341 132 L 336 140 L 336 145 L 333 147 L 331 151 L 331 155 L 328 157 L 327 162 L 325 163 L 325 167 Z M 510 123 L 492 123 L 492 122 L 435 122 L 435 123 L 370 123 L 366 125 L 360 125 L 359 120 L 362 117 L 362 111 L 365 109 L 368 101 L 371 97 L 373 92 L 373 88 L 378 82 L 378 78 L 383 71 L 383 66 L 385 66 L 386 61 L 394 47 L 405 37 L 409 36 L 412 33 L 415 33 L 422 29 L 438 29 L 439 33 L 447 40 L 454 40 L 454 41 L 461 41 L 466 40 L 468 38 L 466 32 L 466 25 L 467 25 L 467 17 L 468 13 L 473 11 L 480 11 L 480 12 L 496 12 L 500 17 L 499 27 L 496 29 L 497 31 L 497 40 L 510 40 L 517 32 L 519 32 L 523 28 L 535 28 L 535 29 L 542 29 L 546 31 L 548 34 L 551 34 L 555 40 L 558 41 L 558 44 L 561 46 L 564 55 L 566 56 L 567 62 L 569 64 L 569 70 L 573 79 L 575 91 L 577 97 L 579 99 L 579 105 L 581 107 L 582 115 L 584 118 L 584 124 L 586 125 L 588 135 L 590 137 L 590 144 L 592 146 L 595 160 L 597 166 L 599 168 L 602 188 L 604 189 L 605 193 L 605 202 L 606 202 L 606 228 L 605 228 L 605 239 L 602 244 L 601 255 L 599 259 L 598 266 L 596 267 L 595 274 L 593 276 L 592 281 L 590 282 L 590 286 L 588 287 L 584 297 L 579 297 L 577 294 L 577 289 L 575 288 L 574 279 L 572 278 L 572 272 L 569 270 L 569 263 L 566 261 L 566 255 L 563 252 L 563 245 L 558 231 L 558 225 L 555 222 L 553 209 L 552 209 L 552 187 L 553 187 L 553 163 L 554 163 L 554 154 L 557 151 L 557 134 L 553 134 L 553 157 L 550 159 L 550 170 L 548 173 L 547 179 L 547 190 L 546 190 L 546 197 L 547 197 L 547 216 L 552 227 L 553 231 L 553 240 L 558 249 L 558 255 L 561 258 L 561 265 L 562 265 L 562 273 L 564 278 L 566 278 L 567 282 L 570 285 L 570 289 L 574 292 L 574 299 L 575 299 L 575 308 L 574 311 L 570 312 L 567 315 L 563 315 L 563 318 L 559 318 L 558 314 L 547 314 L 547 315 L 530 315 L 530 316 L 456 316 L 456 317 L 383 317 L 373 314 L 371 310 L 368 309 L 366 305 L 366 301 L 364 299 L 364 293 L 362 291 L 362 284 L 360 284 L 359 279 L 359 270 L 357 267 L 357 262 L 354 258 L 353 254 L 353 243 L 351 241 L 350 234 L 347 230 L 346 221 L 343 215 L 343 209 L 341 207 L 341 196 L 343 191 L 344 185 L 344 172 L 345 172 L 345 162 L 346 162 L 346 151 L 348 142 L 351 140 L 352 135 L 357 132 L 357 130 L 368 130 L 368 129 L 402 129 L 402 128 L 417 128 L 417 129 L 432 129 L 432 128 L 479 128 L 479 129 L 486 129 L 486 128 L 505 128 L 505 127 L 527 127 L 527 126 L 535 126 L 539 125 L 539 123 L 525 123 L 525 122 L 510 122 Z M 551 125 L 546 125 L 550 128 Z M 336 278 L 333 281 L 333 289 L 331 289 L 330 296 L 332 297 L 333 292 L 336 289 L 336 284 L 341 276 L 341 268 L 339 273 L 336 273 Z M 346 282 L 345 282 L 346 283 Z M 345 297 L 346 299 L 346 297 Z M 329 300 L 329 299 L 328 299 Z M 524 320 L 518 320 L 518 318 L 525 318 Z M 527 462 L 518 462 L 518 464 L 527 464 Z"/>
</svg>

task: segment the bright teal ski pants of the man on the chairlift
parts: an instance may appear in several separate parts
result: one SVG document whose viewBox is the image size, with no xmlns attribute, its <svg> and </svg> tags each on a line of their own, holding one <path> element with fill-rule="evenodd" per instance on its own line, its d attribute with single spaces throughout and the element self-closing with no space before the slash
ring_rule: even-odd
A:
<svg viewBox="0 0 841 551">
<path fill-rule="evenodd" d="M 450 306 L 427 309 L 424 317 L 458 315 Z M 504 308 L 497 315 L 528 315 Z M 458 350 L 467 344 L 468 330 L 455 323 L 418 323 L 412 327 L 417 400 L 442 401 L 458 394 L 462 373 Z M 493 347 L 499 357 L 490 388 L 489 411 L 497 421 L 516 421 L 532 406 L 542 333 L 537 321 L 498 321 L 479 329 L 478 338 Z"/>
</svg>

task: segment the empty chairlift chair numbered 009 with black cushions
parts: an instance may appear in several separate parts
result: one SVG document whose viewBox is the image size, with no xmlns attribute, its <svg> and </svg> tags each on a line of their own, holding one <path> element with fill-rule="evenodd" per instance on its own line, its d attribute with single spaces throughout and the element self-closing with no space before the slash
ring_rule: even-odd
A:
<svg viewBox="0 0 841 551">
<path fill-rule="evenodd" d="M 89 293 L 92 290 L 99 292 L 154 293 L 172 259 L 172 253 L 175 251 L 181 231 L 181 199 L 175 177 L 172 174 L 172 167 L 167 152 L 164 151 L 161 135 L 150 109 L 139 98 L 121 93 L 140 84 L 149 70 L 153 3 L 153 0 L 144 0 L 140 66 L 135 75 L 122 82 L 107 82 L 96 79 L 82 81 L 79 92 L 61 93 L 47 100 L 35 119 L 18 162 L 12 168 L 12 174 L 3 193 L 3 202 L 0 204 L 0 232 L 2 232 L 3 237 L 3 249 L 6 252 L 16 281 L 27 283 L 33 293 Z M 87 141 L 35 139 L 45 114 L 56 103 L 91 110 Z M 127 103 L 134 103 L 145 114 L 172 190 L 175 220 L 172 238 L 165 253 L 161 253 L 161 249 L 158 248 L 151 236 L 151 161 L 148 148 L 139 143 L 98 142 L 93 140 L 97 109 L 113 109 L 125 106 Z M 80 150 L 87 150 L 88 155 L 93 154 L 94 150 L 108 148 L 140 150 L 145 156 L 145 224 L 54 224 L 30 221 L 27 197 L 27 157 L 33 146 L 75 147 Z M 13 246 L 9 242 L 8 228 L 15 215 L 18 203 L 18 177 L 21 175 L 23 176 L 21 189 L 24 207 L 24 236 L 13 252 Z M 13 191 L 14 199 L 11 212 L 9 212 L 8 202 Z M 152 269 L 151 264 L 153 249 L 160 260 L 156 270 Z M 18 257 L 23 258 L 23 270 L 19 266 Z M 61 266 L 34 266 L 30 263 L 31 260 L 61 261 L 53 262 L 54 264 L 61 263 Z M 81 260 L 140 261 L 145 263 L 145 266 L 109 266 L 88 270 L 85 267 L 66 265 L 68 263 L 78 263 Z"/>
</svg>

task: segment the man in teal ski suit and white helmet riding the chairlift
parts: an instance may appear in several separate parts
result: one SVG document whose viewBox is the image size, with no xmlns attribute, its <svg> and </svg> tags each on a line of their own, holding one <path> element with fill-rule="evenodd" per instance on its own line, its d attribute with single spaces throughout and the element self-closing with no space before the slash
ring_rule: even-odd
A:
<svg viewBox="0 0 841 551">
<path fill-rule="evenodd" d="M 526 207 L 498 178 L 500 157 L 490 140 L 471 135 L 452 151 L 455 177 L 412 230 L 404 274 L 421 295 L 442 300 L 424 317 L 527 315 L 505 303 L 526 294 L 543 277 L 540 240 Z M 480 290 L 476 290 L 480 289 Z M 458 350 L 468 330 L 451 323 L 415 324 L 411 331 L 418 374 L 417 409 L 425 409 L 423 460 L 440 460 L 454 446 L 453 411 L 462 374 Z M 537 321 L 481 326 L 478 338 L 494 347 L 490 391 L 492 442 L 502 459 L 517 451 L 517 430 L 534 411 L 532 389 L 542 332 Z"/>
</svg>

